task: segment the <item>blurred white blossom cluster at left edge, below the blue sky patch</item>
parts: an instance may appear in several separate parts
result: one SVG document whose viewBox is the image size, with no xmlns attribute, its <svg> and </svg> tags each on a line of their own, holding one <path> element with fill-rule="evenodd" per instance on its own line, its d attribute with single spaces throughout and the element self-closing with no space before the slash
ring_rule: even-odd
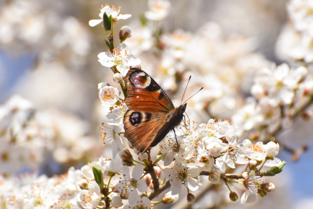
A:
<svg viewBox="0 0 313 209">
<path fill-rule="evenodd" d="M 85 121 L 57 110 L 38 110 L 18 95 L 0 106 L 0 120 L 3 176 L 50 166 L 49 158 L 61 164 L 88 161 L 95 152 L 96 140 L 87 135 Z"/>
</svg>

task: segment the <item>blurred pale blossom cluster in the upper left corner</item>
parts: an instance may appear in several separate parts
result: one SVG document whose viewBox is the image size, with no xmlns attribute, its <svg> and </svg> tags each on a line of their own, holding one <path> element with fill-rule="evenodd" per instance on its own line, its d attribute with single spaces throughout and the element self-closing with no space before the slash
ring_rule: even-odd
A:
<svg viewBox="0 0 313 209">
<path fill-rule="evenodd" d="M 78 18 L 60 10 L 66 8 L 64 2 L 57 2 L 14 0 L 3 3 L 0 46 L 11 53 L 31 51 L 38 66 L 58 62 L 70 70 L 83 69 L 91 49 L 90 34 Z"/>
</svg>

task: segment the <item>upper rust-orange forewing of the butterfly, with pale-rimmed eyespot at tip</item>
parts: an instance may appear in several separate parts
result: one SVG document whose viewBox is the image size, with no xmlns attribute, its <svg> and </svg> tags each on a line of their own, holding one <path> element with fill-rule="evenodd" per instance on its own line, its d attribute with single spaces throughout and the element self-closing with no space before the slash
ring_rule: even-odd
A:
<svg viewBox="0 0 313 209">
<path fill-rule="evenodd" d="M 174 109 L 169 96 L 143 70 L 131 68 L 124 80 L 128 94 L 125 102 L 129 109 L 155 114 Z"/>
</svg>

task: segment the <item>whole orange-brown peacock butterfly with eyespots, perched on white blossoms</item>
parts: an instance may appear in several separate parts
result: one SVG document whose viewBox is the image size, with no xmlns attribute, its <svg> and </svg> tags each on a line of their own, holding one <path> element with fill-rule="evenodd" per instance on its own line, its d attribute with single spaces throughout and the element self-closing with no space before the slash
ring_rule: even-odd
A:
<svg viewBox="0 0 313 209">
<path fill-rule="evenodd" d="M 129 108 L 123 119 L 124 136 L 144 153 L 181 123 L 187 103 L 175 108 L 158 83 L 139 68 L 131 68 L 124 81 Z"/>
</svg>

